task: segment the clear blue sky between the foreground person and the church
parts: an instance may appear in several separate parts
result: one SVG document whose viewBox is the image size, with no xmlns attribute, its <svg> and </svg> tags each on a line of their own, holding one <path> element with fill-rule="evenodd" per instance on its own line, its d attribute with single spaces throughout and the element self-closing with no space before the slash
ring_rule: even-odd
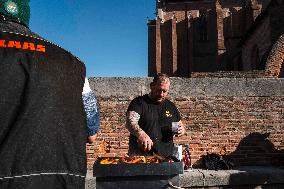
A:
<svg viewBox="0 0 284 189">
<path fill-rule="evenodd" d="M 79 57 L 88 77 L 145 77 L 155 0 L 31 0 L 30 28 Z"/>
</svg>

